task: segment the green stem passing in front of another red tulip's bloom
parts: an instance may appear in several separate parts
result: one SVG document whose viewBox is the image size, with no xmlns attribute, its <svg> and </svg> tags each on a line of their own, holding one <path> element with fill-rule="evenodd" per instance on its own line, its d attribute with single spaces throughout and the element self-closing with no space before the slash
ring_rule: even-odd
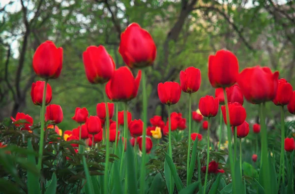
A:
<svg viewBox="0 0 295 194">
<path fill-rule="evenodd" d="M 233 194 L 237 194 L 237 188 L 236 188 L 236 176 L 234 171 L 234 161 L 233 161 L 233 153 L 232 153 L 232 130 L 230 126 L 230 116 L 229 116 L 229 104 L 227 100 L 227 94 L 225 88 L 223 89 L 224 92 L 224 102 L 225 102 L 225 108 L 226 108 L 226 120 L 227 120 L 227 135 L 228 135 L 228 142 L 229 142 L 229 160 L 230 160 L 230 166 L 231 166 L 231 172 L 232 172 L 232 180 L 233 180 Z"/>
</svg>

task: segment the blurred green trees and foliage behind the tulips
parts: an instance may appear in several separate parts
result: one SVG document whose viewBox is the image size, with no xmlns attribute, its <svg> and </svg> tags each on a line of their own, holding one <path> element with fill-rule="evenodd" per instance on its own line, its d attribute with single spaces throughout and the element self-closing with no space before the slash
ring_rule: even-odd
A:
<svg viewBox="0 0 295 194">
<path fill-rule="evenodd" d="M 193 110 L 200 97 L 214 95 L 207 78 L 207 59 L 223 48 L 236 54 L 240 70 L 266 65 L 295 86 L 292 0 L 1 0 L 0 120 L 17 112 L 39 120 L 30 87 L 40 78 L 31 63 L 38 45 L 48 39 L 64 51 L 60 77 L 50 81 L 51 103 L 60 104 L 64 114 L 59 127 L 77 127 L 71 120 L 76 107 L 87 107 L 95 115 L 103 97 L 100 88 L 87 81 L 82 53 L 89 45 L 102 44 L 117 67 L 123 66 L 118 53 L 120 33 L 132 22 L 147 29 L 157 46 L 156 61 L 148 71 L 148 119 L 154 114 L 167 117 L 157 84 L 178 82 L 179 71 L 188 66 L 202 72 L 201 88 L 192 96 Z M 140 118 L 142 112 L 141 91 L 138 94 L 129 106 L 133 118 Z M 187 117 L 187 101 L 188 95 L 182 94 L 173 111 Z M 249 103 L 245 107 L 247 119 L 255 119 L 257 107 Z M 268 103 L 267 108 L 268 118 L 279 116 L 278 107 Z"/>
</svg>

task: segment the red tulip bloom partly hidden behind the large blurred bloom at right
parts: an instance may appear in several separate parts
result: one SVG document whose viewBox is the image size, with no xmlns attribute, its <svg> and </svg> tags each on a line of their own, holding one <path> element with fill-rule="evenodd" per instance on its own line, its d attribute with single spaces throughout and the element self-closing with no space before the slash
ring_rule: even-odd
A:
<svg viewBox="0 0 295 194">
<path fill-rule="evenodd" d="M 278 90 L 275 98 L 272 100 L 277 106 L 284 106 L 289 103 L 293 96 L 293 88 L 285 79 L 278 80 Z"/>
</svg>

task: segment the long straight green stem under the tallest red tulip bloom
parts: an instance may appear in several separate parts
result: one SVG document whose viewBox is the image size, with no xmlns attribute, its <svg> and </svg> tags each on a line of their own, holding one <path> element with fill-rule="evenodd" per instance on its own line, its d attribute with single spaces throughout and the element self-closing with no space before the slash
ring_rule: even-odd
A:
<svg viewBox="0 0 295 194">
<path fill-rule="evenodd" d="M 147 120 L 148 120 L 148 99 L 147 99 L 147 89 L 146 89 L 146 71 L 142 70 L 142 86 L 143 86 L 143 122 L 144 122 L 144 129 L 143 129 L 143 142 L 142 142 L 142 165 L 141 165 L 141 173 L 140 173 L 140 193 L 144 194 L 146 191 L 145 188 L 145 179 L 146 179 L 146 134 L 147 134 Z"/>
</svg>

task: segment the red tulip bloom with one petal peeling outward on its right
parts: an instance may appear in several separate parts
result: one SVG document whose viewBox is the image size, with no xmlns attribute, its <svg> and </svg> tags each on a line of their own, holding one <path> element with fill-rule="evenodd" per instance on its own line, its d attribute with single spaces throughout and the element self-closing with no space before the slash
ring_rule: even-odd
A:
<svg viewBox="0 0 295 194">
<path fill-rule="evenodd" d="M 128 67 L 119 67 L 106 85 L 106 94 L 112 101 L 129 101 L 137 96 L 140 79 L 141 70 L 134 78 Z"/>
</svg>

